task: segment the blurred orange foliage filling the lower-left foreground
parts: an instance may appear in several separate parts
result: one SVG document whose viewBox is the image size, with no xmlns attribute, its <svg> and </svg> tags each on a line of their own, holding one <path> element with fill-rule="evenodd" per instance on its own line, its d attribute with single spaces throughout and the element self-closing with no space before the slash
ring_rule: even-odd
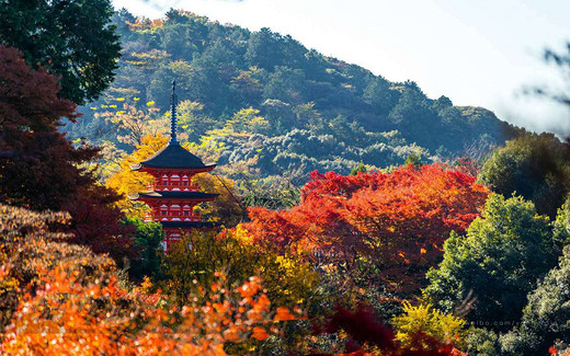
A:
<svg viewBox="0 0 570 356">
<path fill-rule="evenodd" d="M 148 280 L 125 289 L 112 260 L 48 231 L 66 216 L 0 208 L 1 354 L 226 355 L 227 342 L 280 334 L 256 277 L 235 288 L 217 274 L 214 292 L 179 307 Z"/>
</svg>

